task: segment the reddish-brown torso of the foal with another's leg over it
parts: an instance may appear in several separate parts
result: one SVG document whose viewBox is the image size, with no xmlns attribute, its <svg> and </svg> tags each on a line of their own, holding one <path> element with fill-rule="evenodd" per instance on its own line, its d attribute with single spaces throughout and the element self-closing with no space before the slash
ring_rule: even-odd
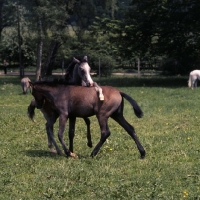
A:
<svg viewBox="0 0 200 200">
<path fill-rule="evenodd" d="M 101 87 L 104 101 L 100 101 L 94 87 L 58 86 L 54 95 L 54 104 L 60 112 L 67 112 L 76 117 L 89 117 L 95 114 L 110 116 L 122 102 L 119 90 L 111 86 Z"/>
</svg>

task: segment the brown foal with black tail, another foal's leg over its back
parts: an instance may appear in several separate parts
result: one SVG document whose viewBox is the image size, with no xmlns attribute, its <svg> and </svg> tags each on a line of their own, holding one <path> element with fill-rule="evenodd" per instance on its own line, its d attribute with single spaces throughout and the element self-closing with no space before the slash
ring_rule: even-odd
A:
<svg viewBox="0 0 200 200">
<path fill-rule="evenodd" d="M 137 102 L 129 95 L 111 86 L 102 86 L 104 101 L 100 101 L 93 87 L 72 86 L 57 83 L 36 82 L 30 83 L 32 95 L 36 101 L 36 107 L 41 109 L 44 100 L 50 102 L 50 106 L 59 115 L 58 138 L 67 156 L 75 156 L 73 149 L 69 150 L 63 140 L 66 122 L 70 118 L 69 129 L 75 128 L 76 117 L 90 117 L 96 115 L 101 129 L 99 143 L 93 149 L 91 156 L 95 156 L 110 135 L 108 118 L 111 117 L 121 125 L 133 138 L 140 152 L 141 158 L 145 157 L 145 150 L 140 144 L 133 126 L 123 116 L 125 98 L 133 107 L 135 115 L 140 118 L 143 112 Z M 69 133 L 71 130 L 69 130 Z M 73 137 L 69 137 L 73 144 Z"/>
</svg>

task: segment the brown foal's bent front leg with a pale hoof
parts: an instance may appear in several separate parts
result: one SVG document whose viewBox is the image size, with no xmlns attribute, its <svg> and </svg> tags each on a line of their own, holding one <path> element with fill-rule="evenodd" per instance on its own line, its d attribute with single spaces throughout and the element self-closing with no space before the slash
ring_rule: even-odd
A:
<svg viewBox="0 0 200 200">
<path fill-rule="evenodd" d="M 63 133 L 65 131 L 67 119 L 68 119 L 68 116 L 60 115 L 58 139 L 59 139 L 60 143 L 62 144 L 62 147 L 63 147 L 65 154 L 67 156 L 76 157 L 76 155 L 74 153 L 70 152 L 70 150 L 66 147 L 66 144 L 65 144 L 64 139 L 63 139 Z"/>
</svg>

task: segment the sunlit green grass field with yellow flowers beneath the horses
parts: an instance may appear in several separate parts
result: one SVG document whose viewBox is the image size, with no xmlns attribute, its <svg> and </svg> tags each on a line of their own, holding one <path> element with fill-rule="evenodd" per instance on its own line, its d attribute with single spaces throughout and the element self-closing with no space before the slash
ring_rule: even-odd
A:
<svg viewBox="0 0 200 200">
<path fill-rule="evenodd" d="M 124 115 L 135 127 L 146 158 L 140 159 L 134 141 L 111 119 L 111 136 L 95 158 L 89 156 L 82 119 L 77 120 L 74 140 L 79 158 L 50 153 L 43 115 L 36 110 L 35 123 L 27 117 L 32 95 L 22 95 L 18 77 L 0 76 L 0 199 L 200 199 L 200 88 L 189 89 L 187 77 L 96 81 L 119 88 L 141 106 L 142 119 L 127 101 Z M 98 122 L 95 117 L 91 121 L 96 145 Z M 56 135 L 57 130 L 58 123 Z"/>
</svg>

